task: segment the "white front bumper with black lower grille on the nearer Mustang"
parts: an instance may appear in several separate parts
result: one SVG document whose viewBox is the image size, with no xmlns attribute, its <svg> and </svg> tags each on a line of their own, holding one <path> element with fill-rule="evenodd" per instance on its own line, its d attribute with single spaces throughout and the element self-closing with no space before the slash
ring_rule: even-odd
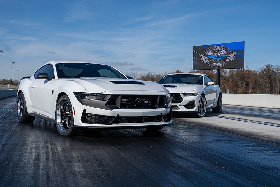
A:
<svg viewBox="0 0 280 187">
<path fill-rule="evenodd" d="M 156 109 L 102 109 L 82 105 L 73 93 L 68 95 L 74 111 L 75 127 L 100 129 L 146 128 L 172 125 L 169 108 Z"/>
</svg>

